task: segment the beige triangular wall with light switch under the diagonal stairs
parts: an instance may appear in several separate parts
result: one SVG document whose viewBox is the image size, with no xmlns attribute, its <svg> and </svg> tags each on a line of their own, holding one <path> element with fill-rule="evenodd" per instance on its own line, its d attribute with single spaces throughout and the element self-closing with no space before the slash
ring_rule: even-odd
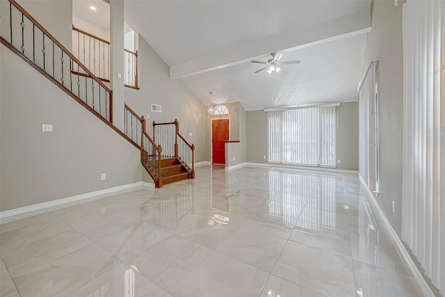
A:
<svg viewBox="0 0 445 297">
<path fill-rule="evenodd" d="M 12 51 L 0 52 L 0 211 L 141 181 L 136 147 Z"/>
</svg>

